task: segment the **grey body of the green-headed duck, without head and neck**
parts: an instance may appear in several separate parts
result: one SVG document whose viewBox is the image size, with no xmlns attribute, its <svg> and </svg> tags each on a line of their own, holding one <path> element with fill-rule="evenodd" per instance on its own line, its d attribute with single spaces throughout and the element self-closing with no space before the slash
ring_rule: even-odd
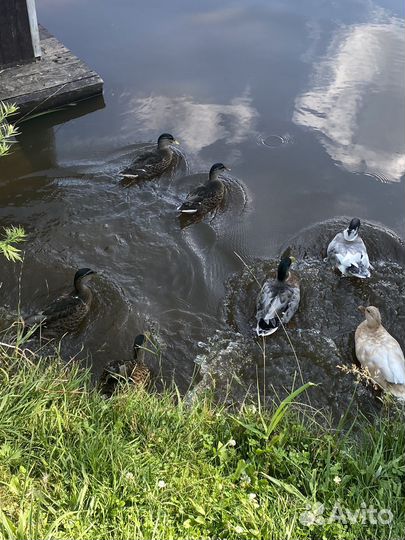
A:
<svg viewBox="0 0 405 540">
<path fill-rule="evenodd" d="M 257 335 L 269 336 L 281 323 L 288 323 L 297 311 L 299 301 L 298 285 L 266 281 L 257 298 Z"/>
</svg>

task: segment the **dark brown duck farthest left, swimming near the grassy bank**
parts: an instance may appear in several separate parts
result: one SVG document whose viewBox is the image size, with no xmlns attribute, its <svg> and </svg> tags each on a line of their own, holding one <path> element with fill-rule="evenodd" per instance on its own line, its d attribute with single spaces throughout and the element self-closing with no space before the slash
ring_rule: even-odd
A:
<svg viewBox="0 0 405 540">
<path fill-rule="evenodd" d="M 25 319 L 27 326 L 39 324 L 41 333 L 47 336 L 74 332 L 90 310 L 93 298 L 87 282 L 96 274 L 90 268 L 81 268 L 75 274 L 73 291 L 54 300 L 42 311 Z"/>
</svg>

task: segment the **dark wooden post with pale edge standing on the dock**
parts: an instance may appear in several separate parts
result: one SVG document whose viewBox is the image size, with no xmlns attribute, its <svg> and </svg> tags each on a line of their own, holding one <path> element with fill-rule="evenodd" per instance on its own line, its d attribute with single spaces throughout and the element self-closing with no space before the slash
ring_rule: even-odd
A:
<svg viewBox="0 0 405 540">
<path fill-rule="evenodd" d="M 0 66 L 41 56 L 35 0 L 0 0 Z"/>
</svg>

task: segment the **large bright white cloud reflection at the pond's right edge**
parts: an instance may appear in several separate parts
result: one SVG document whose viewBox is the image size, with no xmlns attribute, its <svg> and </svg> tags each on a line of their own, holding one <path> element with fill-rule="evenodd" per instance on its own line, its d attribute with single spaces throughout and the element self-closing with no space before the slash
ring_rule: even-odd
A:
<svg viewBox="0 0 405 540">
<path fill-rule="evenodd" d="M 333 160 L 384 182 L 405 172 L 404 42 L 403 22 L 394 18 L 340 30 L 293 114 L 320 132 Z"/>
</svg>

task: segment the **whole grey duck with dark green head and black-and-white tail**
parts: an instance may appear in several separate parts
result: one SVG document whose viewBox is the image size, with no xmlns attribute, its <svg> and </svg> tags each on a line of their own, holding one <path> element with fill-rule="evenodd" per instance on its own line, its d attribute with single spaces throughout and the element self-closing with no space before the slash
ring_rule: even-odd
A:
<svg viewBox="0 0 405 540">
<path fill-rule="evenodd" d="M 277 269 L 277 277 L 267 280 L 257 297 L 256 334 L 269 336 L 281 326 L 288 323 L 298 309 L 300 303 L 300 282 L 290 266 L 296 262 L 295 257 L 281 259 Z"/>
</svg>

